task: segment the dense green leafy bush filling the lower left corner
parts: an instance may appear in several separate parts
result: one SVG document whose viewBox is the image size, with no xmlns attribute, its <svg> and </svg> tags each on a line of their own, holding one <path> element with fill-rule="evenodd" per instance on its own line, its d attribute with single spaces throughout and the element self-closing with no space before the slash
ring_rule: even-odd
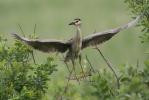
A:
<svg viewBox="0 0 149 100">
<path fill-rule="evenodd" d="M 44 64 L 30 63 L 32 52 L 18 40 L 7 44 L 0 35 L 1 100 L 37 100 L 46 93 L 49 76 L 56 71 L 54 59 L 47 58 Z"/>
</svg>

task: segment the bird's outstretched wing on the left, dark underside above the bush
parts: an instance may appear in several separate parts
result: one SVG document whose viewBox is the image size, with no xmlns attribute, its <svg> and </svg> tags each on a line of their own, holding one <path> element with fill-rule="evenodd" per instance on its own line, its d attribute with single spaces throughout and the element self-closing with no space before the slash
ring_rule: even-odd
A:
<svg viewBox="0 0 149 100">
<path fill-rule="evenodd" d="M 50 53 L 50 52 L 61 52 L 64 53 L 69 47 L 70 43 L 68 41 L 55 40 L 55 39 L 28 39 L 24 37 L 20 37 L 15 32 L 12 31 L 13 36 L 21 41 L 24 41 L 29 46 L 33 47 L 42 52 Z"/>
</svg>

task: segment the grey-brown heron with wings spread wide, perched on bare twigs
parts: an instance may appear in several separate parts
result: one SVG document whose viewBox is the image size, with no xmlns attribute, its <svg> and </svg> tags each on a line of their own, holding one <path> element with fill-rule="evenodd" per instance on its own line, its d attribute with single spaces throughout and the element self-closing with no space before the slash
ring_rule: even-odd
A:
<svg viewBox="0 0 149 100">
<path fill-rule="evenodd" d="M 69 62 L 70 60 L 72 61 L 75 77 L 77 81 L 79 81 L 79 76 L 77 76 L 76 71 L 75 71 L 75 59 L 79 58 L 79 64 L 82 69 L 81 73 L 85 75 L 85 72 L 81 64 L 82 50 L 87 47 L 96 46 L 96 45 L 102 44 L 103 42 L 110 40 L 114 35 L 119 33 L 121 30 L 135 25 L 139 21 L 141 16 L 142 15 L 139 15 L 138 17 L 136 17 L 135 20 L 123 26 L 110 29 L 110 30 L 105 30 L 105 31 L 98 32 L 98 33 L 94 33 L 86 37 L 82 37 L 81 19 L 76 18 L 71 23 L 69 23 L 69 25 L 75 25 L 77 27 L 76 34 L 74 35 L 73 38 L 69 40 L 29 39 L 29 38 L 19 36 L 14 31 L 12 31 L 11 33 L 15 39 L 24 41 L 26 44 L 33 47 L 34 49 L 45 52 L 45 53 L 54 53 L 54 52 L 65 53 L 67 51 L 64 62 Z"/>
</svg>

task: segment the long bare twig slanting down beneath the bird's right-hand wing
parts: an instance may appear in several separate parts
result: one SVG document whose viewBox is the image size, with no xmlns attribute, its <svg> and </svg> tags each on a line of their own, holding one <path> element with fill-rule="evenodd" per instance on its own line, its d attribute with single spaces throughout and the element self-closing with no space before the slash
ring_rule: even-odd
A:
<svg viewBox="0 0 149 100">
<path fill-rule="evenodd" d="M 114 69 L 112 68 L 111 64 L 109 63 L 109 61 L 104 57 L 104 55 L 102 54 L 102 52 L 100 51 L 100 49 L 95 46 L 96 50 L 98 50 L 98 52 L 100 53 L 100 55 L 102 56 L 102 58 L 104 59 L 104 61 L 107 63 L 107 65 L 109 66 L 109 68 L 112 70 L 112 72 L 114 73 L 115 77 L 116 77 L 116 80 L 117 80 L 117 85 L 118 85 L 118 89 L 120 88 L 120 82 L 119 82 L 119 78 L 116 74 L 116 72 L 114 71 Z"/>
</svg>

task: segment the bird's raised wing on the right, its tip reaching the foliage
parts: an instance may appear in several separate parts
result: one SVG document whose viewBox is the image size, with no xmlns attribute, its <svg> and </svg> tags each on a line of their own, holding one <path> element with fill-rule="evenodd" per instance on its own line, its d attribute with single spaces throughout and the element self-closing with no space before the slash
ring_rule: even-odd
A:
<svg viewBox="0 0 149 100">
<path fill-rule="evenodd" d="M 102 31 L 102 32 L 95 33 L 95 34 L 92 34 L 92 35 L 84 37 L 82 39 L 82 49 L 86 48 L 86 47 L 89 47 L 89 46 L 95 46 L 95 45 L 101 44 L 101 43 L 111 39 L 112 36 L 114 36 L 119 31 L 135 25 L 139 21 L 141 16 L 142 16 L 142 14 L 140 16 L 138 16 L 132 22 L 130 22 L 128 24 L 125 24 L 125 25 L 123 25 L 121 27 L 118 27 L 118 28 L 115 28 L 115 29 L 106 30 L 106 31 Z"/>
</svg>

